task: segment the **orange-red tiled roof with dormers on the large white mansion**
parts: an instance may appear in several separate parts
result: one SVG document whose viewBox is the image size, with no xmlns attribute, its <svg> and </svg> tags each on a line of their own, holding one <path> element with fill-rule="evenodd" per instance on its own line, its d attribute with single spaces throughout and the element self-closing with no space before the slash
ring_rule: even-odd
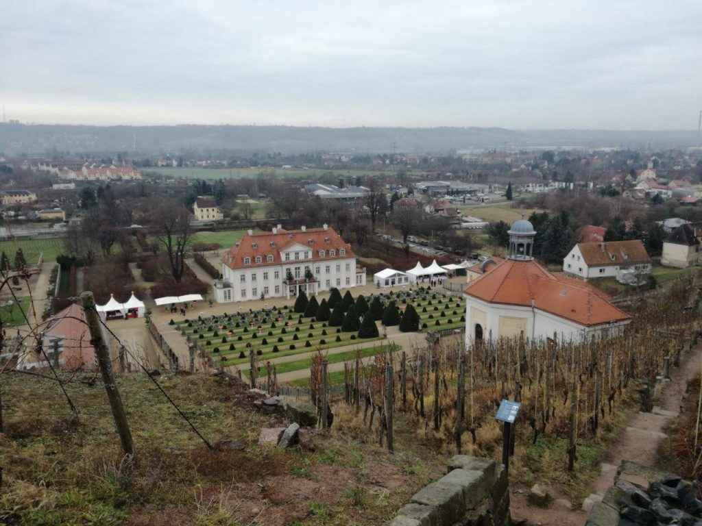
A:
<svg viewBox="0 0 702 526">
<path fill-rule="evenodd" d="M 271 244 L 273 243 L 273 244 Z M 292 245 L 303 245 L 310 250 L 311 257 L 307 259 L 290 259 L 284 261 L 281 250 L 285 250 Z M 329 255 L 329 250 L 336 250 L 336 254 Z M 344 255 L 339 251 L 345 250 Z M 319 250 L 324 250 L 324 257 L 319 255 Z M 272 255 L 273 260 L 267 261 L 267 256 Z M 261 262 L 256 263 L 256 256 L 261 257 Z M 244 264 L 244 258 L 251 258 L 251 264 Z M 345 259 L 355 257 L 351 245 L 346 243 L 339 234 L 331 227 L 324 229 L 303 230 L 277 230 L 276 234 L 266 232 L 263 234 L 246 234 L 241 241 L 227 250 L 222 261 L 230 269 L 246 269 L 249 267 L 266 267 L 267 265 L 279 265 L 284 263 L 305 263 L 314 261 L 326 261 L 329 259 Z"/>
</svg>

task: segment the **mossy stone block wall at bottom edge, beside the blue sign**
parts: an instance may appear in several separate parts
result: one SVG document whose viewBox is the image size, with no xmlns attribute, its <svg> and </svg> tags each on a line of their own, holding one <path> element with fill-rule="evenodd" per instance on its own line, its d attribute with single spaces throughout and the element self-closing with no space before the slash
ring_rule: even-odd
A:
<svg viewBox="0 0 702 526">
<path fill-rule="evenodd" d="M 503 526 L 510 522 L 510 492 L 502 464 L 456 455 L 448 473 L 423 487 L 390 526 Z"/>
</svg>

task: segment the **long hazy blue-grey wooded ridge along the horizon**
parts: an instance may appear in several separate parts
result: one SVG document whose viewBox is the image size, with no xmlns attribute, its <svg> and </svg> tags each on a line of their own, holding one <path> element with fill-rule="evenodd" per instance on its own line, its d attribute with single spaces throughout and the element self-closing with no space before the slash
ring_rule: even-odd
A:
<svg viewBox="0 0 702 526">
<path fill-rule="evenodd" d="M 0 152 L 346 151 L 442 153 L 504 147 L 688 147 L 694 131 L 505 128 L 301 128 L 295 126 L 74 126 L 0 123 Z"/>
</svg>

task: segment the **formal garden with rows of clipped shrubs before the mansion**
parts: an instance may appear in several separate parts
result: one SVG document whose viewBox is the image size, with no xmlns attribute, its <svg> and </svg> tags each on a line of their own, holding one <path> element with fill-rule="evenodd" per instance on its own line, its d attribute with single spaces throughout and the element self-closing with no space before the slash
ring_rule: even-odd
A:
<svg viewBox="0 0 702 526">
<path fill-rule="evenodd" d="M 350 291 L 342 297 L 333 288 L 329 299 L 321 302 L 302 292 L 293 306 L 171 320 L 170 325 L 176 325 L 188 342 L 222 365 L 240 365 L 249 363 L 251 350 L 261 361 L 384 339 L 377 322 L 380 327 L 398 326 L 401 332 L 461 328 L 465 325 L 464 309 L 463 299 L 429 288 L 369 297 L 354 297 Z M 382 346 L 376 347 L 372 348 L 375 353 L 382 350 Z M 363 352 L 373 356 L 373 351 Z M 335 360 L 353 358 L 355 354 Z M 289 372 L 309 365 L 303 359 L 281 367 L 285 371 L 279 372 Z"/>
</svg>

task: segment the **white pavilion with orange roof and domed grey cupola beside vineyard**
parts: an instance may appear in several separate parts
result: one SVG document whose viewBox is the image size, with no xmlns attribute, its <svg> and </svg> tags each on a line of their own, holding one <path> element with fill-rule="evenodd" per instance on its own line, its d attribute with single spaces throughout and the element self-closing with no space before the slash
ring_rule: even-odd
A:
<svg viewBox="0 0 702 526">
<path fill-rule="evenodd" d="M 531 257 L 535 235 L 527 220 L 512 224 L 508 259 L 468 284 L 466 345 L 501 337 L 609 337 L 630 322 L 603 292 L 536 263 Z"/>
</svg>

